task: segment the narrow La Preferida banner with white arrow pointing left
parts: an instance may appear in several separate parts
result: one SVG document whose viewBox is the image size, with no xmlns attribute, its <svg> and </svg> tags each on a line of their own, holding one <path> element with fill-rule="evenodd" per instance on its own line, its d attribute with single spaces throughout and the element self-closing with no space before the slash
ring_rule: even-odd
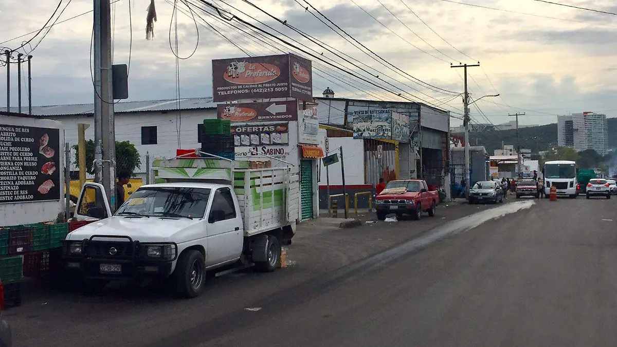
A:
<svg viewBox="0 0 617 347">
<path fill-rule="evenodd" d="M 291 101 L 247 102 L 218 105 L 218 118 L 234 122 L 287 122 L 298 120 L 298 103 Z"/>
</svg>

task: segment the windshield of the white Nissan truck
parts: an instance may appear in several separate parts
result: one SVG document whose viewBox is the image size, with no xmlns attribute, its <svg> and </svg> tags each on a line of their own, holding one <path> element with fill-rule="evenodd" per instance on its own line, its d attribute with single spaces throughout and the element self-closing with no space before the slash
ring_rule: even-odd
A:
<svg viewBox="0 0 617 347">
<path fill-rule="evenodd" d="M 203 218 L 209 197 L 209 188 L 139 188 L 122 204 L 116 215 Z"/>
</svg>

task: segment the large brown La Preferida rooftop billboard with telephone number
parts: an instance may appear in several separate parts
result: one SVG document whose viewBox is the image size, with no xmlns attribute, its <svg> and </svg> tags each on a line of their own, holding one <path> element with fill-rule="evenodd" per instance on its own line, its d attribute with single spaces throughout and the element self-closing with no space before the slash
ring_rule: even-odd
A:
<svg viewBox="0 0 617 347">
<path fill-rule="evenodd" d="M 212 61 L 214 102 L 296 98 L 313 101 L 311 61 L 294 54 Z"/>
</svg>

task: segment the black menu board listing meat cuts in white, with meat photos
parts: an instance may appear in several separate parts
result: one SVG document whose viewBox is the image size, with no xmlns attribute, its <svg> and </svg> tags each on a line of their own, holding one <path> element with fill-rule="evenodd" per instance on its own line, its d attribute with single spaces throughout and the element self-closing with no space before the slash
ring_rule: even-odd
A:
<svg viewBox="0 0 617 347">
<path fill-rule="evenodd" d="M 60 200 L 60 130 L 0 124 L 0 204 Z"/>
</svg>

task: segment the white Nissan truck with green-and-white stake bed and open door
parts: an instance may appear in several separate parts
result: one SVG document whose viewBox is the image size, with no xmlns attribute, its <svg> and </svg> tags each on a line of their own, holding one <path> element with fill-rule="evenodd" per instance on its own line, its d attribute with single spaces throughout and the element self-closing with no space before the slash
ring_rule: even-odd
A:
<svg viewBox="0 0 617 347">
<path fill-rule="evenodd" d="M 110 280 L 168 278 L 198 296 L 205 279 L 234 267 L 278 267 L 300 212 L 296 167 L 248 169 L 248 162 L 168 159 L 111 215 L 101 185 L 86 183 L 74 217 L 94 220 L 63 241 L 64 266 L 91 289 Z"/>
</svg>

